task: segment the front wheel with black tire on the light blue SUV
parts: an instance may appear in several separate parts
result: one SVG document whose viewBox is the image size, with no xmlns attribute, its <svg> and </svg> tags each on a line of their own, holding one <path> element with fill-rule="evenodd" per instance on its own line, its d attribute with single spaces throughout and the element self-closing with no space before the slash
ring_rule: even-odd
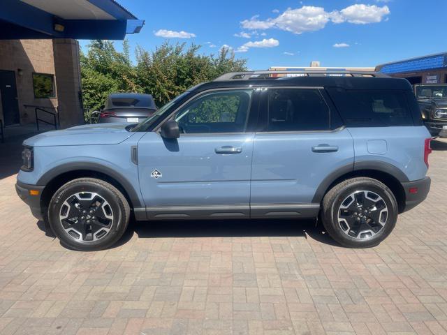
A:
<svg viewBox="0 0 447 335">
<path fill-rule="evenodd" d="M 88 222 L 96 223 L 94 225 L 87 225 L 87 216 L 80 217 L 80 215 L 83 215 L 82 213 L 78 214 L 79 216 L 76 216 L 75 228 L 78 229 L 78 227 L 85 227 L 85 225 L 87 225 L 87 232 L 85 232 L 84 236 L 84 234 L 75 233 L 82 229 L 70 230 L 71 222 L 73 221 L 66 221 L 65 219 L 61 219 L 61 214 L 62 211 L 71 211 L 72 206 L 67 206 L 68 202 L 66 201 L 70 201 L 71 204 L 73 204 L 73 201 L 78 201 L 73 198 L 75 197 L 75 195 L 88 195 L 89 193 L 91 197 L 98 196 L 99 200 L 94 202 L 94 204 L 96 204 L 96 207 L 89 207 L 92 212 L 94 210 L 98 211 L 98 214 L 96 214 L 98 215 L 98 218 L 92 216 L 92 219 L 95 219 L 96 221 Z M 94 193 L 96 193 L 96 195 L 94 195 Z M 92 199 L 95 200 L 96 198 Z M 80 199 L 80 202 L 82 203 L 87 204 L 88 201 L 88 199 Z M 66 204 L 64 204 L 64 202 L 66 202 Z M 62 208 L 63 206 L 64 209 Z M 68 209 L 66 209 L 66 207 L 68 207 Z M 79 204 L 75 204 L 73 206 L 73 211 L 80 211 L 80 209 L 78 209 L 79 207 L 82 206 L 80 206 Z M 106 218 L 100 218 L 99 216 L 101 216 L 101 211 L 103 212 L 103 216 L 109 216 Z M 94 213 L 95 212 L 93 212 L 92 215 L 95 215 Z M 115 186 L 112 186 L 108 182 L 101 179 L 80 178 L 69 181 L 68 183 L 61 186 L 61 188 L 59 188 L 59 190 L 54 193 L 48 207 L 48 221 L 54 234 L 56 234 L 56 236 L 61 241 L 61 244 L 63 244 L 64 246 L 78 251 L 97 251 L 112 246 L 118 241 L 120 237 L 122 237 L 122 235 L 126 231 L 127 225 L 129 224 L 130 213 L 131 211 L 129 203 L 127 202 L 124 195 L 122 195 L 122 193 L 117 188 L 115 188 Z M 87 211 L 87 215 L 88 214 L 89 212 Z M 80 220 L 81 218 L 82 221 Z M 101 223 L 98 223 L 100 219 L 103 221 L 101 221 Z M 62 221 L 64 221 L 64 223 Z M 101 228 L 99 228 L 99 230 L 92 234 L 91 232 L 94 229 L 100 227 L 100 225 L 104 225 L 105 229 L 101 230 Z M 100 235 L 103 236 L 100 237 Z"/>
</svg>

